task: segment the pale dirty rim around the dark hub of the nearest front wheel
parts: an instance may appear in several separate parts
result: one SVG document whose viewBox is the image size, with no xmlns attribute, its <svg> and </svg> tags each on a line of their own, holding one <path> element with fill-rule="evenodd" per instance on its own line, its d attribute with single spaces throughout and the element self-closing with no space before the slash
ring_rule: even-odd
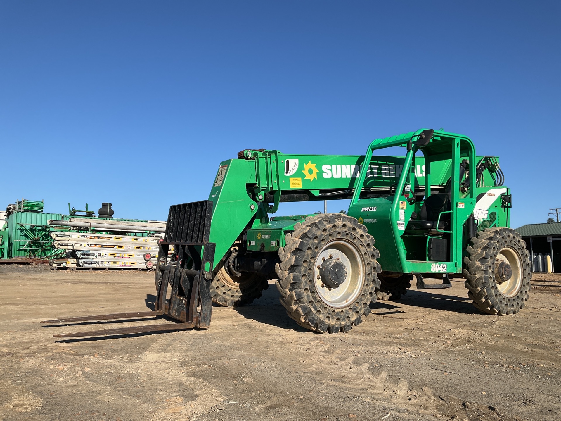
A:
<svg viewBox="0 0 561 421">
<path fill-rule="evenodd" d="M 329 288 L 320 278 L 320 265 L 324 259 L 339 259 L 347 269 L 341 285 Z M 354 301 L 364 285 L 364 262 L 355 245 L 344 240 L 328 242 L 315 260 L 314 283 L 319 298 L 333 308 L 343 308 Z M 323 286 L 322 286 L 323 285 Z"/>
</svg>

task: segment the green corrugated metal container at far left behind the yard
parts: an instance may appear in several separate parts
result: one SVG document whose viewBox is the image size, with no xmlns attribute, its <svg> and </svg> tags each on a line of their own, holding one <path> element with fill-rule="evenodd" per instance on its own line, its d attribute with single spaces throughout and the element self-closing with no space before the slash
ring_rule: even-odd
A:
<svg viewBox="0 0 561 421">
<path fill-rule="evenodd" d="M 8 217 L 8 256 L 10 258 L 39 258 L 53 251 L 49 219 L 60 221 L 59 213 L 16 212 Z"/>
</svg>

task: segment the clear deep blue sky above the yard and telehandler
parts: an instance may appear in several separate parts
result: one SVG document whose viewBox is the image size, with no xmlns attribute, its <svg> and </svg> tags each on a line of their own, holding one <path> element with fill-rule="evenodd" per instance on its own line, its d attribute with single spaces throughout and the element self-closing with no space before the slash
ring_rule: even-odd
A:
<svg viewBox="0 0 561 421">
<path fill-rule="evenodd" d="M 0 208 L 165 219 L 241 149 L 364 154 L 443 127 L 500 155 L 513 227 L 545 222 L 561 207 L 560 4 L 3 0 Z M 279 213 L 295 209 L 323 203 Z"/>
</svg>

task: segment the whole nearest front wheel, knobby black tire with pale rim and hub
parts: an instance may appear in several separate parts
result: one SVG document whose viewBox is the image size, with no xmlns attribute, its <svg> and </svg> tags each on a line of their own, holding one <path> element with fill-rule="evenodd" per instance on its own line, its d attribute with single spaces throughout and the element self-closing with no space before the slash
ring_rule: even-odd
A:
<svg viewBox="0 0 561 421">
<path fill-rule="evenodd" d="M 347 332 L 376 301 L 379 256 L 357 219 L 339 213 L 307 217 L 279 249 L 280 303 L 306 329 Z"/>
</svg>

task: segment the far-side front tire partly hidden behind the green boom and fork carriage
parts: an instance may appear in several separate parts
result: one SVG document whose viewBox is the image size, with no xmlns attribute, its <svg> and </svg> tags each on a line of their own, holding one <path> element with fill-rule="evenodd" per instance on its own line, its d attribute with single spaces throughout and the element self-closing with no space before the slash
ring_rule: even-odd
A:
<svg viewBox="0 0 561 421">
<path fill-rule="evenodd" d="M 228 259 L 224 259 L 224 262 L 228 262 Z M 266 277 L 255 273 L 235 276 L 221 263 L 215 270 L 210 284 L 210 295 L 213 303 L 224 307 L 241 307 L 261 298 L 263 290 L 268 288 L 269 282 Z"/>
</svg>

